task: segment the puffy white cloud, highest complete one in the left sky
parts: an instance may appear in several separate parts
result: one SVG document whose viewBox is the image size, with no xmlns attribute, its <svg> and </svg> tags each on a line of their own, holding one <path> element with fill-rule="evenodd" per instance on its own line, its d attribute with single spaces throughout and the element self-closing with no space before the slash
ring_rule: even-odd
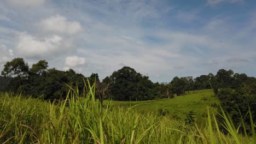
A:
<svg viewBox="0 0 256 144">
<path fill-rule="evenodd" d="M 79 22 L 68 21 L 66 17 L 59 14 L 43 19 L 40 21 L 39 27 L 44 31 L 70 35 L 82 31 L 82 27 Z"/>
</svg>

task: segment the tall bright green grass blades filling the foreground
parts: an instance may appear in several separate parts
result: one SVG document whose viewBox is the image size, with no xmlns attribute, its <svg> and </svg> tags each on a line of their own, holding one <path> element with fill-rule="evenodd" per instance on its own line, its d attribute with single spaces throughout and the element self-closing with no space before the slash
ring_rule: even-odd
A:
<svg viewBox="0 0 256 144">
<path fill-rule="evenodd" d="M 0 143 L 253 143 L 254 137 L 238 134 L 225 113 L 226 129 L 219 130 L 208 111 L 206 127 L 138 112 L 134 107 L 101 107 L 95 99 L 95 84 L 78 95 L 71 88 L 64 101 L 53 103 L 0 94 Z M 252 131 L 255 135 L 252 121 Z"/>
</svg>

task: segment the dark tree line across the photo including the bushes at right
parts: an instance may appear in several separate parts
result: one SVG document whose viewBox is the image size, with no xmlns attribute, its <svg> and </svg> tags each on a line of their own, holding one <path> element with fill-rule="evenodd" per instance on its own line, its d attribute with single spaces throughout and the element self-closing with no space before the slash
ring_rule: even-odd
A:
<svg viewBox="0 0 256 144">
<path fill-rule="evenodd" d="M 44 100 L 63 100 L 70 87 L 75 87 L 79 94 L 86 93 L 89 85 L 85 82 L 87 80 L 91 84 L 96 83 L 95 97 L 101 103 L 107 98 L 120 101 L 171 99 L 193 90 L 213 89 L 236 128 L 250 129 L 249 107 L 254 124 L 256 119 L 256 78 L 234 73 L 232 70 L 220 69 L 216 75 L 210 73 L 195 79 L 192 76 L 176 76 L 171 82 L 159 83 L 150 81 L 148 76 L 135 69 L 123 67 L 100 81 L 98 74 L 92 73 L 85 77 L 75 73 L 73 69 L 61 71 L 48 68 L 45 60 L 40 60 L 29 68 L 23 58 L 14 58 L 4 65 L 1 74 L 0 92 L 22 93 Z M 221 113 L 220 109 L 218 111 Z M 222 122 L 223 117 L 217 118 Z"/>
</svg>

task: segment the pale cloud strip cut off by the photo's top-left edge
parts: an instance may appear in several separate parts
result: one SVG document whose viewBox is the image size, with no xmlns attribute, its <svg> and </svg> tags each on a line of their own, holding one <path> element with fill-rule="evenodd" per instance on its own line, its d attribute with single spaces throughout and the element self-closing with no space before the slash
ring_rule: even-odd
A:
<svg viewBox="0 0 256 144">
<path fill-rule="evenodd" d="M 45 0 L 7 0 L 9 4 L 16 5 L 19 7 L 31 7 L 42 5 Z"/>
</svg>

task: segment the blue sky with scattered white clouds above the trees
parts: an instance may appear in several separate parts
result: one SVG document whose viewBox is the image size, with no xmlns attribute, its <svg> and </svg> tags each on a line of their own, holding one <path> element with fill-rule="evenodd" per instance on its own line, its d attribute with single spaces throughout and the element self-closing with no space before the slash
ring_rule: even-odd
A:
<svg viewBox="0 0 256 144">
<path fill-rule="evenodd" d="M 124 66 L 170 82 L 219 69 L 256 76 L 254 0 L 1 0 L 0 70 L 31 65 L 100 79 Z"/>
</svg>

